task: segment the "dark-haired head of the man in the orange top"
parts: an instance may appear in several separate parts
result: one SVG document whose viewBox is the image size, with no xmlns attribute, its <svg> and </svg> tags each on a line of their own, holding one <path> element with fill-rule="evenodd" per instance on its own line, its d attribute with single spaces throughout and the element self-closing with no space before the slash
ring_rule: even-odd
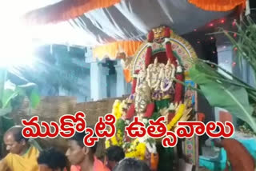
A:
<svg viewBox="0 0 256 171">
<path fill-rule="evenodd" d="M 87 147 L 83 143 L 83 138 L 86 136 L 85 132 L 75 133 L 73 137 L 70 137 L 68 143 L 69 147 L 66 151 L 66 157 L 68 157 L 72 165 L 80 165 L 83 161 L 94 161 L 94 153 L 97 149 L 97 142 L 92 147 Z M 96 137 L 94 135 L 94 137 Z"/>
</svg>

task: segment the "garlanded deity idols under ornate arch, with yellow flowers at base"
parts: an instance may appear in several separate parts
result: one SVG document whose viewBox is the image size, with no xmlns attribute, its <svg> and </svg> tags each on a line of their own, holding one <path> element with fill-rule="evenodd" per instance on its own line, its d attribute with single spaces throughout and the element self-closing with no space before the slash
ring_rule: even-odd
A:
<svg viewBox="0 0 256 171">
<path fill-rule="evenodd" d="M 126 157 L 146 161 L 152 171 L 173 169 L 174 150 L 163 147 L 164 137 L 152 138 L 145 135 L 133 138 L 126 133 L 125 128 L 134 121 L 135 116 L 147 128 L 152 125 L 151 119 L 155 121 L 164 116 L 165 121 L 162 122 L 168 131 L 177 129 L 178 121 L 196 118 L 192 112 L 194 93 L 184 94 L 181 83 L 190 82 L 189 77 L 185 77 L 190 67 L 184 67 L 189 58 L 196 58 L 194 49 L 169 27 L 160 26 L 150 31 L 147 41 L 131 58 L 130 66 L 124 67 L 130 70 L 132 90 L 125 101 L 119 101 L 120 105 L 113 107 L 114 115 L 119 118 L 115 124 L 117 131 L 116 136 L 106 141 L 106 146 L 122 146 Z M 119 117 L 120 113 L 122 117 Z M 194 142 L 193 138 L 185 141 Z"/>
</svg>

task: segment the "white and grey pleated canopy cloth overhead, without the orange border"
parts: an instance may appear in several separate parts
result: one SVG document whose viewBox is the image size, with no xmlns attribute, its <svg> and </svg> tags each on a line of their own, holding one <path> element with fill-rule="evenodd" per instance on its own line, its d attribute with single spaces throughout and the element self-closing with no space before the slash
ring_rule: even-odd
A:
<svg viewBox="0 0 256 171">
<path fill-rule="evenodd" d="M 26 30 L 30 37 L 45 40 L 43 42 L 50 40 L 50 43 L 63 42 L 69 46 L 95 47 L 112 42 L 142 42 L 149 30 L 162 25 L 169 26 L 179 35 L 187 34 L 232 12 L 234 10 L 201 10 L 187 0 L 121 0 L 113 6 L 90 10 L 65 22 L 33 28 L 26 26 Z M 42 21 L 41 15 L 35 16 Z"/>
</svg>

